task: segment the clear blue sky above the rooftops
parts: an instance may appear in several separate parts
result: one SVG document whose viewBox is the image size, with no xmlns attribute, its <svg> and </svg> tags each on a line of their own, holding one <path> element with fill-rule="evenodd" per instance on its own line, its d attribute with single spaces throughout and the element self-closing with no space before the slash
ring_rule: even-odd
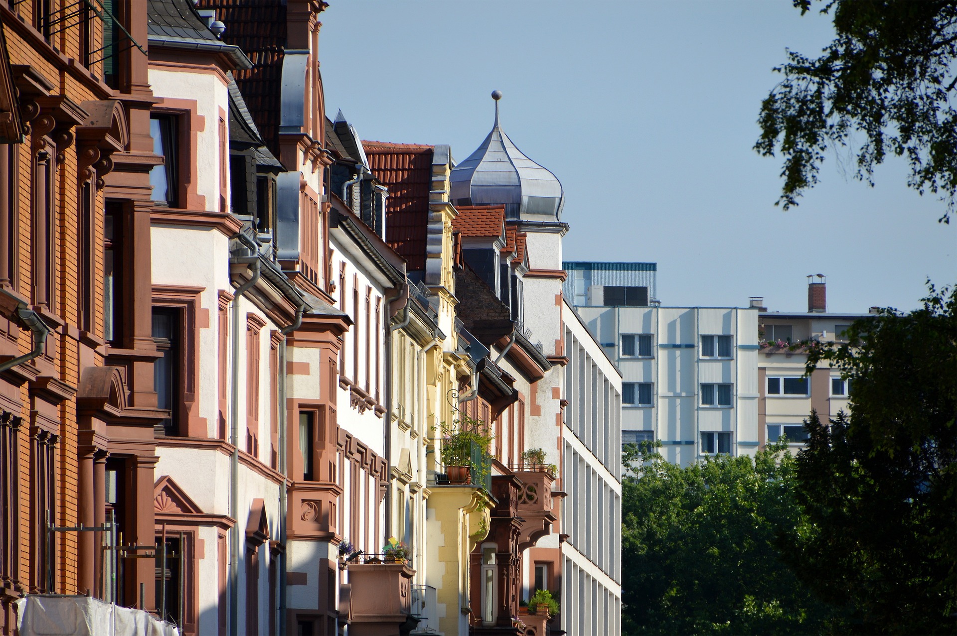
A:
<svg viewBox="0 0 957 636">
<path fill-rule="evenodd" d="M 657 262 L 665 304 L 805 311 L 820 273 L 831 311 L 910 309 L 927 276 L 957 282 L 957 223 L 937 223 L 944 204 L 908 189 L 902 162 L 871 188 L 831 153 L 798 208 L 774 207 L 781 164 L 751 150 L 771 68 L 832 37 L 790 0 L 329 5 L 330 117 L 461 161 L 501 90 L 502 127 L 565 187 L 566 260 Z"/>
</svg>

